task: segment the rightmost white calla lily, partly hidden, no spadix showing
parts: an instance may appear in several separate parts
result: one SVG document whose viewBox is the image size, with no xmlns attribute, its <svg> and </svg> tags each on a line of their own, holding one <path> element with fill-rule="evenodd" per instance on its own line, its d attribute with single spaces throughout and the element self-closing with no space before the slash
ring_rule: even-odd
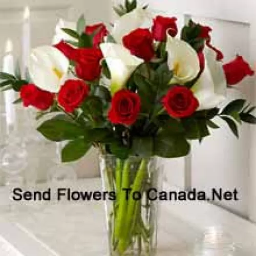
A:
<svg viewBox="0 0 256 256">
<path fill-rule="evenodd" d="M 226 99 L 227 84 L 222 62 L 216 60 L 216 52 L 208 47 L 205 47 L 204 56 L 204 71 L 191 88 L 199 101 L 198 110 L 215 108 Z"/>
</svg>

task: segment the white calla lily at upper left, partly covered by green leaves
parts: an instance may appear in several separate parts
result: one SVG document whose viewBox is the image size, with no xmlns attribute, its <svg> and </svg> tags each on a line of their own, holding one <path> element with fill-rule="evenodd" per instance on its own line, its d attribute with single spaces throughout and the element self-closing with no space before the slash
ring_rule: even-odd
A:
<svg viewBox="0 0 256 256">
<path fill-rule="evenodd" d="M 75 22 L 67 22 L 66 20 L 59 19 L 59 22 L 57 23 L 55 27 L 55 35 L 53 37 L 52 44 L 56 45 L 61 40 L 74 40 L 73 37 L 62 31 L 63 28 L 68 28 L 72 30 L 76 30 L 76 23 Z"/>
</svg>

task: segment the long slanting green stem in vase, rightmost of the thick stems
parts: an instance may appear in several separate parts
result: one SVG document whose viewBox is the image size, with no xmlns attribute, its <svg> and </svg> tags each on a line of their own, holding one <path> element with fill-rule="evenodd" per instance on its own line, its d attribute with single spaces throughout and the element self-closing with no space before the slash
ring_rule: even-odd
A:
<svg viewBox="0 0 256 256">
<path fill-rule="evenodd" d="M 142 181 L 145 177 L 145 174 L 146 174 L 146 160 L 142 159 L 139 169 L 138 169 L 138 172 L 137 172 L 137 176 L 136 176 L 133 186 L 132 186 L 131 195 L 135 191 L 141 190 L 141 185 L 142 185 Z M 120 201 L 119 203 L 122 203 L 122 202 Z M 120 240 L 118 242 L 118 251 L 120 253 L 123 253 L 127 249 L 127 246 L 129 246 L 129 242 L 130 242 L 129 238 L 128 238 L 129 230 L 131 228 L 133 218 L 137 218 L 137 216 L 134 215 L 135 205 L 136 205 L 136 201 L 133 199 L 132 196 L 130 196 L 129 201 L 128 201 L 128 206 L 127 206 L 125 226 L 123 227 L 123 232 L 122 232 L 123 236 L 120 237 Z"/>
</svg>

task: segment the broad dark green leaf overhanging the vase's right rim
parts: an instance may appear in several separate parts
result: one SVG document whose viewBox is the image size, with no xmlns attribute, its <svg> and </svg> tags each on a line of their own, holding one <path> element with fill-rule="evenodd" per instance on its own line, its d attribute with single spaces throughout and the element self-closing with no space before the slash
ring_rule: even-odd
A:
<svg viewBox="0 0 256 256">
<path fill-rule="evenodd" d="M 186 156 L 190 151 L 187 140 L 180 135 L 159 134 L 154 141 L 154 154 L 163 158 Z"/>
</svg>

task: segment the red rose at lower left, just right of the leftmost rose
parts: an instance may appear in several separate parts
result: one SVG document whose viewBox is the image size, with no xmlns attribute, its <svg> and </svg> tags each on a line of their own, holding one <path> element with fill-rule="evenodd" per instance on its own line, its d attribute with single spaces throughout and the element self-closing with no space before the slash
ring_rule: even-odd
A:
<svg viewBox="0 0 256 256">
<path fill-rule="evenodd" d="M 89 94 L 89 86 L 82 80 L 67 80 L 60 88 L 58 102 L 65 111 L 74 112 Z"/>
</svg>

